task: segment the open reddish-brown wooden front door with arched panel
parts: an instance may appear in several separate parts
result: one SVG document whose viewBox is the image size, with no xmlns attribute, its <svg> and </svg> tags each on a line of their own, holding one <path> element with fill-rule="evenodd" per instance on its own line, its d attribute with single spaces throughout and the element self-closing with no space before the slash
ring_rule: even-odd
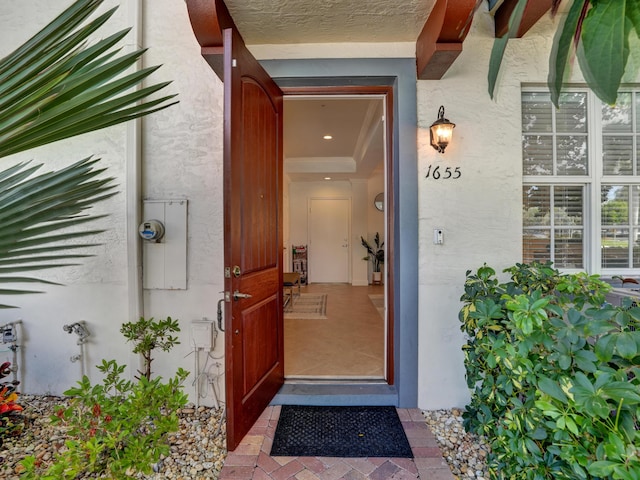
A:
<svg viewBox="0 0 640 480">
<path fill-rule="evenodd" d="M 224 30 L 227 447 L 284 383 L 282 92 Z M 230 298 L 229 298 L 230 297 Z"/>
</svg>

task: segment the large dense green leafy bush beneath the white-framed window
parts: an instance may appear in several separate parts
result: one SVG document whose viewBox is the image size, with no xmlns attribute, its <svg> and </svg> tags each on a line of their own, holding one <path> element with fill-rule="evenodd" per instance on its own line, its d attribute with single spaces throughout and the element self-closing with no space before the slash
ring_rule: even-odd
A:
<svg viewBox="0 0 640 480">
<path fill-rule="evenodd" d="M 467 272 L 465 428 L 496 479 L 640 479 L 640 308 L 597 276 L 517 264 Z"/>
</svg>

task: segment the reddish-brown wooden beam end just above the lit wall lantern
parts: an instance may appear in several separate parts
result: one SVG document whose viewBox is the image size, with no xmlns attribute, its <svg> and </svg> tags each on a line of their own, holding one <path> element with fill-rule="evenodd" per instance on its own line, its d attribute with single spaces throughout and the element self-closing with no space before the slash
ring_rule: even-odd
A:
<svg viewBox="0 0 640 480">
<path fill-rule="evenodd" d="M 475 5 L 476 0 L 436 1 L 416 42 L 419 79 L 442 78 L 458 58 Z"/>
</svg>

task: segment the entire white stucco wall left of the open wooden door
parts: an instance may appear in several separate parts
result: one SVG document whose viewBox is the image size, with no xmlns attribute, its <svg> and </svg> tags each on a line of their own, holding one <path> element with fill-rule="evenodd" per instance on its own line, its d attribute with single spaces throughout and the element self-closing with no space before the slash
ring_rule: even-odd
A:
<svg viewBox="0 0 640 480">
<path fill-rule="evenodd" d="M 69 3 L 4 2 L 0 55 L 17 47 Z M 70 362 L 70 357 L 79 352 L 76 337 L 62 329 L 64 324 L 80 320 L 87 322 L 91 332 L 84 366 L 94 381 L 99 379 L 94 366 L 102 358 L 129 364 L 133 374 L 138 358 L 130 353 L 132 347 L 119 330 L 123 322 L 135 320 L 138 314 L 180 320 L 181 345 L 172 354 L 155 355 L 154 372 L 166 377 L 179 366 L 193 372 L 194 356 L 187 356 L 191 351 L 190 324 L 203 317 L 216 318 L 216 303 L 223 289 L 222 83 L 200 55 L 184 2 L 111 0 L 100 11 L 118 4 L 120 8 L 100 35 L 140 25 L 139 35 L 134 28 L 126 38 L 125 50 L 133 45 L 151 46 L 144 57 L 145 65 L 163 64 L 152 81 L 173 80 L 165 92 L 178 93 L 180 103 L 144 119 L 139 133 L 135 124 L 117 126 L 3 159 L 3 165 L 8 166 L 33 158 L 53 169 L 95 154 L 108 167 L 108 174 L 117 178 L 120 190 L 95 209 L 96 213 L 109 214 L 100 221 L 99 226 L 107 231 L 96 239 L 103 243 L 93 249 L 96 256 L 82 266 L 43 274 L 65 286 L 46 288 L 44 295 L 3 298 L 21 306 L 19 310 L 0 311 L 0 324 L 23 320 L 18 363 L 21 388 L 28 393 L 61 394 L 80 378 L 80 363 Z M 140 165 L 138 178 L 136 163 Z M 138 182 L 140 189 L 135 185 Z M 127 200 L 132 191 L 137 202 Z M 187 290 L 149 290 L 140 297 L 135 284 L 140 268 L 136 252 L 139 240 L 131 225 L 136 224 L 141 199 L 188 200 Z M 1 350 L 5 350 L 2 345 L 0 359 L 11 360 L 10 352 Z M 223 337 L 219 336 L 213 355 L 219 357 L 222 351 Z M 201 360 L 204 365 L 204 356 Z M 223 370 L 217 363 L 209 360 L 211 374 Z M 192 380 L 193 373 L 186 390 L 195 401 Z M 211 404 L 214 397 L 207 383 L 202 383 L 200 401 Z"/>
</svg>

